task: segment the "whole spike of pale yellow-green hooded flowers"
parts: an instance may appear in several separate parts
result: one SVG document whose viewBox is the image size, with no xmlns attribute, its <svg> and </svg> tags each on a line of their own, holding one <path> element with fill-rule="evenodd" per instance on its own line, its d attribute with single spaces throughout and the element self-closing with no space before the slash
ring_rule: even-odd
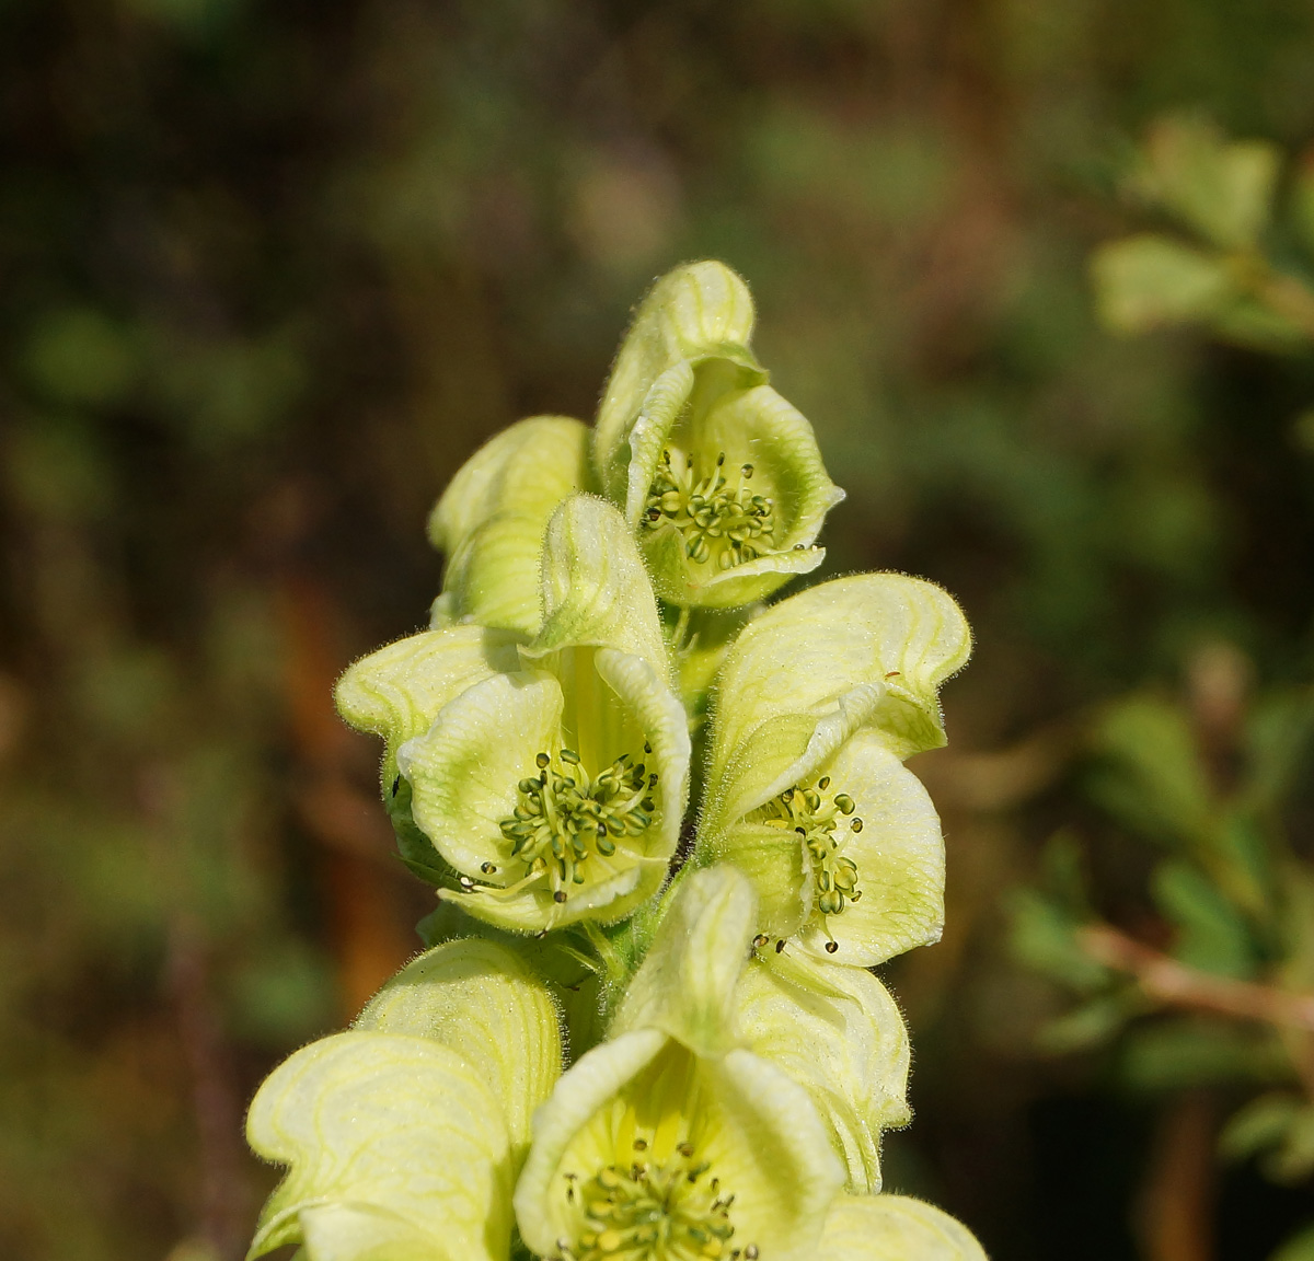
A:
<svg viewBox="0 0 1314 1261">
<path fill-rule="evenodd" d="M 385 743 L 430 950 L 251 1106 L 251 1257 L 982 1261 L 882 1194 L 908 1038 L 869 971 L 940 935 L 955 603 L 821 561 L 842 498 L 716 263 L 639 307 L 597 424 L 477 452 L 428 629 L 338 686 Z M 569 1050 L 570 1057 L 566 1059 Z"/>
</svg>

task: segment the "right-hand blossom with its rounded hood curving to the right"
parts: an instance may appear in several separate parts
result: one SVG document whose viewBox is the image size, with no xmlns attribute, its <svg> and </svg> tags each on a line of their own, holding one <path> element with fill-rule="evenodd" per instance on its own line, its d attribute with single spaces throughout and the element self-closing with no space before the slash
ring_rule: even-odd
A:
<svg viewBox="0 0 1314 1261">
<path fill-rule="evenodd" d="M 937 690 L 970 648 L 953 599 L 899 574 L 812 587 L 740 634 L 696 852 L 753 879 L 761 931 L 863 967 L 938 938 L 940 820 L 901 759 L 943 743 Z"/>
</svg>

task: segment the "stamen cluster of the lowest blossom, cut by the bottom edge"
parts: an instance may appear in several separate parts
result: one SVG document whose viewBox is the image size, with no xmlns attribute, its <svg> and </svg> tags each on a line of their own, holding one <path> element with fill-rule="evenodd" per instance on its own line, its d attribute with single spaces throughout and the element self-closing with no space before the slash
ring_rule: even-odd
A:
<svg viewBox="0 0 1314 1261">
<path fill-rule="evenodd" d="M 735 1197 L 721 1191 L 720 1180 L 707 1177 L 708 1164 L 696 1160 L 694 1147 L 681 1143 L 664 1164 L 648 1164 L 646 1141 L 635 1141 L 636 1159 L 628 1168 L 607 1165 L 587 1182 L 566 1174 L 566 1199 L 583 1211 L 578 1243 L 562 1241 L 561 1253 L 573 1261 L 756 1261 L 757 1248 L 741 1253 L 731 1248 Z"/>
</svg>

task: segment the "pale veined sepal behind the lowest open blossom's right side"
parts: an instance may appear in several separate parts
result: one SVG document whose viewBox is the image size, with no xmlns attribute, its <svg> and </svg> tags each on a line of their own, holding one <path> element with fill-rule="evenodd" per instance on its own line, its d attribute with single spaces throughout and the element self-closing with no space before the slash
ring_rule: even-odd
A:
<svg viewBox="0 0 1314 1261">
<path fill-rule="evenodd" d="M 905 1126 L 908 1030 L 890 992 L 862 968 L 763 947 L 740 981 L 748 1048 L 812 1097 L 848 1168 L 848 1190 L 880 1190 L 880 1135 Z"/>
</svg>

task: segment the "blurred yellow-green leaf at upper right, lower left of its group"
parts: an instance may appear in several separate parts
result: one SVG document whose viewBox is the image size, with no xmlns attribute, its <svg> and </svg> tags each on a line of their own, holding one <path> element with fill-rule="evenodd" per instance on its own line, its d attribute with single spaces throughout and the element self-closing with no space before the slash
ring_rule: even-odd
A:
<svg viewBox="0 0 1314 1261">
<path fill-rule="evenodd" d="M 1213 319 L 1239 294 L 1223 259 L 1154 232 L 1101 246 L 1091 276 L 1100 318 L 1125 334 Z"/>
</svg>

